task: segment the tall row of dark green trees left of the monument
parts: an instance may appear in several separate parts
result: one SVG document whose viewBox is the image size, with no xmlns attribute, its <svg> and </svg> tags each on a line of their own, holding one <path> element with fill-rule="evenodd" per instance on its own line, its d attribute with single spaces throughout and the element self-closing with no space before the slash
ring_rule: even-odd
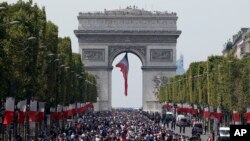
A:
<svg viewBox="0 0 250 141">
<path fill-rule="evenodd" d="M 0 97 L 49 105 L 95 102 L 96 79 L 85 72 L 69 37 L 32 1 L 0 3 Z M 87 83 L 88 82 L 88 83 Z"/>
</svg>

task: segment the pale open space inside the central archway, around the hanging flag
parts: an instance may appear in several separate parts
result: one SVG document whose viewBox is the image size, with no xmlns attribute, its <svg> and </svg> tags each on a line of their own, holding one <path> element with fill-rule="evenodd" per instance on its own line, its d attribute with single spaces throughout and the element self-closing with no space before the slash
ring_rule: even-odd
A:
<svg viewBox="0 0 250 141">
<path fill-rule="evenodd" d="M 115 67 L 124 57 L 125 52 L 116 55 L 112 61 L 112 108 L 141 108 L 142 107 L 142 60 L 138 55 L 128 51 L 128 95 L 125 96 L 124 78 L 120 68 Z"/>
</svg>

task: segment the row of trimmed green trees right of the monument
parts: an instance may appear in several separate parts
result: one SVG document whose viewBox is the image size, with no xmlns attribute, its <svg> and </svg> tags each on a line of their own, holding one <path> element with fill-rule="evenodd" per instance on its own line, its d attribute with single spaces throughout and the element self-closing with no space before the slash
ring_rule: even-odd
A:
<svg viewBox="0 0 250 141">
<path fill-rule="evenodd" d="M 250 58 L 212 56 L 191 63 L 169 78 L 157 95 L 161 102 L 190 103 L 245 113 L 250 106 Z"/>
</svg>

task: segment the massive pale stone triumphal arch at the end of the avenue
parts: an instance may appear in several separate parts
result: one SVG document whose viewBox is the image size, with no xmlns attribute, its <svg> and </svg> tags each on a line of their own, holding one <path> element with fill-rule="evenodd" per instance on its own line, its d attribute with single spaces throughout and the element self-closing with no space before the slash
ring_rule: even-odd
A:
<svg viewBox="0 0 250 141">
<path fill-rule="evenodd" d="M 95 110 L 111 110 L 112 62 L 119 54 L 130 52 L 142 62 L 143 110 L 160 111 L 153 80 L 175 75 L 176 43 L 181 34 L 176 13 L 126 8 L 79 13 L 78 21 L 74 33 L 82 62 L 97 78 L 99 100 Z"/>
</svg>

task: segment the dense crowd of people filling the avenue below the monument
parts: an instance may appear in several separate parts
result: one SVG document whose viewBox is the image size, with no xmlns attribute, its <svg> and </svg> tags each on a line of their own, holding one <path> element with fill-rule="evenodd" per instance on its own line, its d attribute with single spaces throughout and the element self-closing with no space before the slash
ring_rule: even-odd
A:
<svg viewBox="0 0 250 141">
<path fill-rule="evenodd" d="M 197 140 L 180 135 L 160 124 L 157 115 L 138 110 L 88 112 L 64 128 L 54 126 L 41 133 L 39 141 L 187 141 Z"/>
</svg>

